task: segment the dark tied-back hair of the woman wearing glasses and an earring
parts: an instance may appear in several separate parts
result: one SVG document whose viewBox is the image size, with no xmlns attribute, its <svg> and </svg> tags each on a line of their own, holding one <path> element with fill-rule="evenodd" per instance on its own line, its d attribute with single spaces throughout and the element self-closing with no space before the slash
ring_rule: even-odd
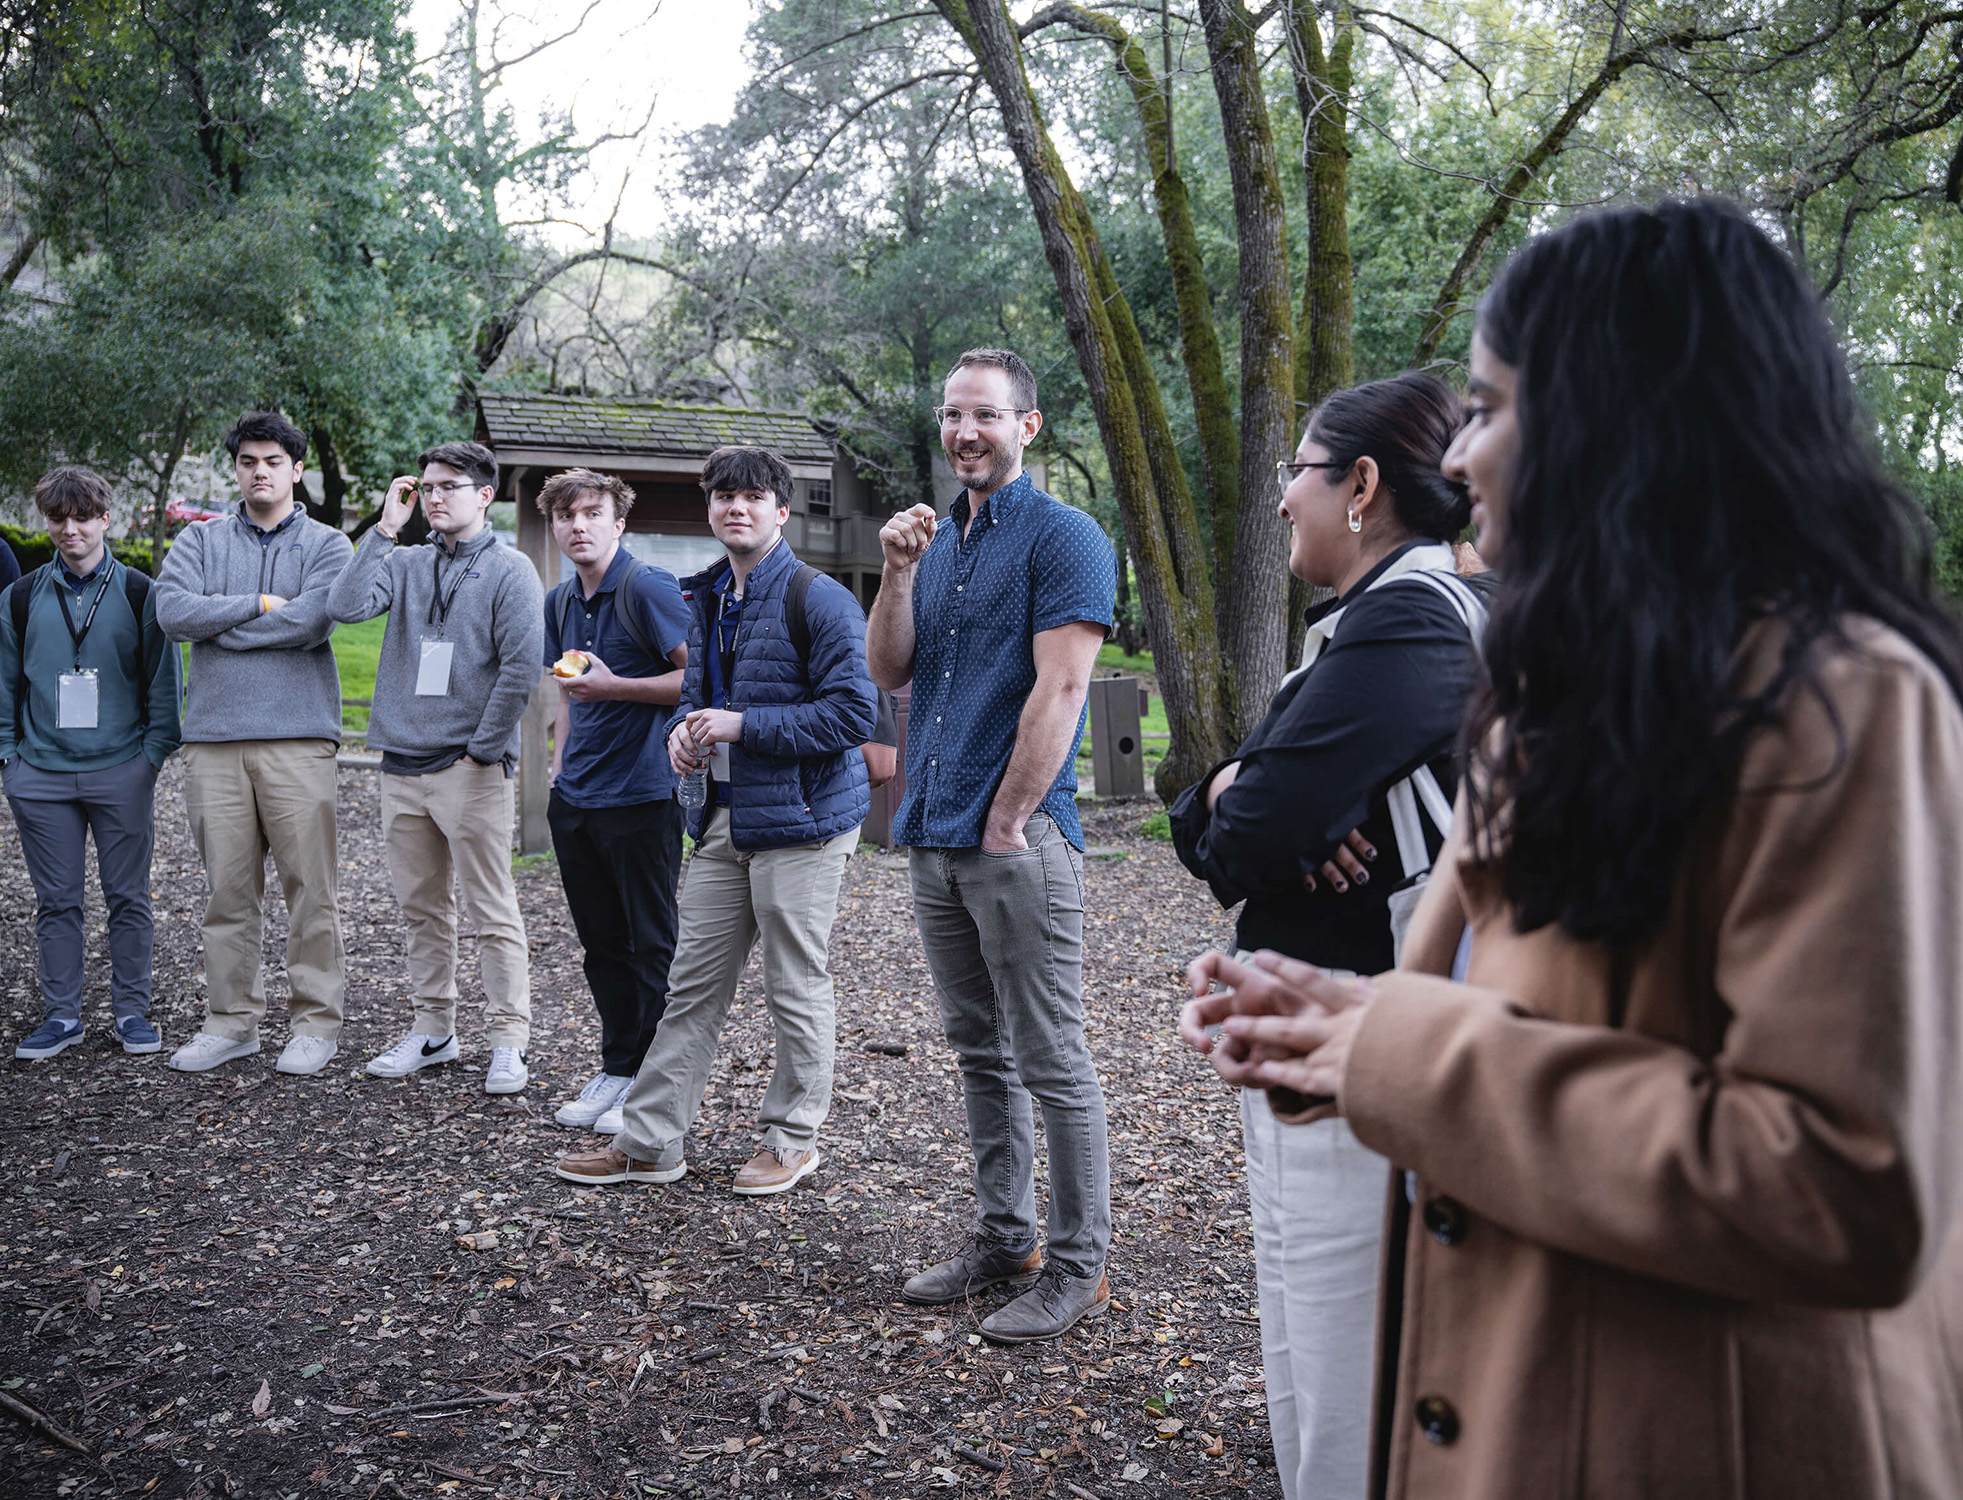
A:
<svg viewBox="0 0 1963 1500">
<path fill-rule="evenodd" d="M 1406 373 L 1325 397 L 1309 414 L 1309 442 L 1327 448 L 1331 463 L 1374 457 L 1404 530 L 1453 542 L 1472 518 L 1472 501 L 1439 463 L 1460 426 L 1464 406 L 1445 381 Z"/>
</svg>

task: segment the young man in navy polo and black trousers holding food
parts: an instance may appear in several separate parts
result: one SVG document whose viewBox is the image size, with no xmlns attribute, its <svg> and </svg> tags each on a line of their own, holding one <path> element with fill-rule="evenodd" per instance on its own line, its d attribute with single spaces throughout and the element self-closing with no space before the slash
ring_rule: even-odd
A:
<svg viewBox="0 0 1963 1500">
<path fill-rule="evenodd" d="M 662 730 L 681 695 L 689 618 L 675 575 L 620 546 L 634 509 L 622 479 L 556 473 L 538 509 L 577 573 L 546 595 L 546 664 L 587 658 L 559 685 L 546 809 L 601 1013 L 601 1070 L 557 1111 L 587 1129 L 626 1096 L 667 1007 L 683 813 Z"/>
</svg>

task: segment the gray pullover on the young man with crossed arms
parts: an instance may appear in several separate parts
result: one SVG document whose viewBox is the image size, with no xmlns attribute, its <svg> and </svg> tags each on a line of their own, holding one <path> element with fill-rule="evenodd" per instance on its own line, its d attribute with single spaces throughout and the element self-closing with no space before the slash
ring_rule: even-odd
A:
<svg viewBox="0 0 1963 1500">
<path fill-rule="evenodd" d="M 185 742 L 342 738 L 328 589 L 353 544 L 300 507 L 271 532 L 243 512 L 179 532 L 157 571 L 157 624 L 190 642 Z M 261 611 L 259 595 L 287 603 Z"/>
</svg>

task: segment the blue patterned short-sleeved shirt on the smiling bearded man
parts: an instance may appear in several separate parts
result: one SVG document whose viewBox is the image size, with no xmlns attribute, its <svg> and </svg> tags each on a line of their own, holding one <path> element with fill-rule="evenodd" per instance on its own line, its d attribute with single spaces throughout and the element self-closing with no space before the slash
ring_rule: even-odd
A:
<svg viewBox="0 0 1963 1500">
<path fill-rule="evenodd" d="M 1035 638 L 1060 624 L 1111 628 L 1117 554 L 1082 510 L 1031 477 L 989 495 L 968 520 L 968 493 L 921 558 L 913 581 L 913 709 L 907 719 L 907 797 L 893 842 L 976 848 L 1015 730 L 1036 685 Z M 1036 805 L 1084 848 L 1078 825 L 1078 744 L 1084 715 L 1056 779 Z"/>
</svg>

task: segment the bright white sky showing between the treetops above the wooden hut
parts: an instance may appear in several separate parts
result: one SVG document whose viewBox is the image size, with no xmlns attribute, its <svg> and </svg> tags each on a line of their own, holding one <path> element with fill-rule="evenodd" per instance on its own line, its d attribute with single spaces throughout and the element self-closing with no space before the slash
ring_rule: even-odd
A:
<svg viewBox="0 0 1963 1500">
<path fill-rule="evenodd" d="M 565 31 L 589 0 L 483 0 L 483 22 L 508 18 L 514 55 Z M 410 20 L 418 53 L 428 57 L 459 12 L 459 0 L 414 0 Z M 665 143 L 681 132 L 726 120 L 748 79 L 742 37 L 754 0 L 593 0 L 585 27 L 506 75 L 512 110 L 522 126 L 542 106 L 565 106 L 583 134 L 632 130 L 654 104 L 646 145 L 609 145 L 595 171 L 577 185 L 571 216 L 597 230 L 607 222 L 624 173 L 632 173 L 620 202 L 618 230 L 656 236 L 667 222 L 669 177 Z M 577 238 L 567 232 L 569 238 Z"/>
</svg>

